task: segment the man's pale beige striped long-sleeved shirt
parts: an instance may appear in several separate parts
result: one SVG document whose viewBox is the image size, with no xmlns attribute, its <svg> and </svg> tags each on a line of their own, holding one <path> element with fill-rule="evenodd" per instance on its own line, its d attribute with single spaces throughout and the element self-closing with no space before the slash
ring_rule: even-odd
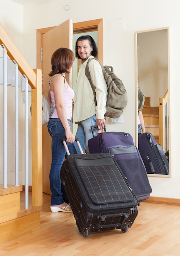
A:
<svg viewBox="0 0 180 256">
<path fill-rule="evenodd" d="M 93 56 L 90 56 L 93 58 Z M 95 87 L 97 106 L 94 103 L 93 90 L 85 75 L 85 67 L 88 59 L 79 66 L 79 73 L 76 83 L 77 99 L 73 108 L 73 121 L 80 122 L 93 115 L 97 119 L 103 119 L 106 113 L 107 84 L 98 61 L 89 62 L 89 71 Z"/>
</svg>

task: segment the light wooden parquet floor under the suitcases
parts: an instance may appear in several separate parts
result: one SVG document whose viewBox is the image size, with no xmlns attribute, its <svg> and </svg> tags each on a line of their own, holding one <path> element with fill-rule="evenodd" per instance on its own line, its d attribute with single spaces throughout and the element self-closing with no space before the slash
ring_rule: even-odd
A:
<svg viewBox="0 0 180 256">
<path fill-rule="evenodd" d="M 41 229 L 0 245 L 0 256 L 179 256 L 180 206 L 141 202 L 133 226 L 84 238 L 73 213 L 52 213 L 43 194 Z"/>
</svg>

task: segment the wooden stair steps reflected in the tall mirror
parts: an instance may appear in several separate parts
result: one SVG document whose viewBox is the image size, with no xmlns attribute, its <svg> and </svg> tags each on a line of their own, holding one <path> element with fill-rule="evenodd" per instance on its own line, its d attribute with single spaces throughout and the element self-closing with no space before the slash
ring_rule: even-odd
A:
<svg viewBox="0 0 180 256">
<path fill-rule="evenodd" d="M 151 132 L 159 143 L 159 107 L 151 107 L 150 97 L 145 99 L 142 115 L 146 132 Z"/>
</svg>

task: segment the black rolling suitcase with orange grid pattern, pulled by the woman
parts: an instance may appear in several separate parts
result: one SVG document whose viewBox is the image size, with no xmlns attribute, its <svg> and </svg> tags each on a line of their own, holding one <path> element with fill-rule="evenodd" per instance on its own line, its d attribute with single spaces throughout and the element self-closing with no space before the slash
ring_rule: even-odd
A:
<svg viewBox="0 0 180 256">
<path fill-rule="evenodd" d="M 138 199 L 111 154 L 68 155 L 60 177 L 84 237 L 111 229 L 126 232 L 133 225 Z"/>
</svg>

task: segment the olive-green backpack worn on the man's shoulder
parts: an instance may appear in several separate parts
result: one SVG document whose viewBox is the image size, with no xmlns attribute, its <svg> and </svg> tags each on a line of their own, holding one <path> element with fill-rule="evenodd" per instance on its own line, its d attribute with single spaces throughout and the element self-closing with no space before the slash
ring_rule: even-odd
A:
<svg viewBox="0 0 180 256">
<path fill-rule="evenodd" d="M 90 58 L 89 61 L 91 60 L 98 61 L 98 59 L 96 58 Z M 95 104 L 97 104 L 96 92 L 93 86 L 93 82 L 91 80 L 91 74 L 89 72 L 89 66 L 88 66 L 89 61 L 87 62 L 87 65 L 85 68 L 85 75 L 87 76 L 91 84 L 91 88 L 94 94 L 94 101 L 95 101 Z M 100 61 L 98 62 L 100 63 Z M 116 74 L 113 73 L 113 67 L 103 66 L 102 63 L 100 63 L 100 65 L 102 67 L 102 72 L 108 88 L 106 113 L 104 116 L 111 117 L 111 118 L 118 118 L 120 117 L 120 115 L 122 115 L 124 108 L 127 106 L 126 89 L 122 81 L 118 78 L 118 76 L 116 76 Z"/>
</svg>

